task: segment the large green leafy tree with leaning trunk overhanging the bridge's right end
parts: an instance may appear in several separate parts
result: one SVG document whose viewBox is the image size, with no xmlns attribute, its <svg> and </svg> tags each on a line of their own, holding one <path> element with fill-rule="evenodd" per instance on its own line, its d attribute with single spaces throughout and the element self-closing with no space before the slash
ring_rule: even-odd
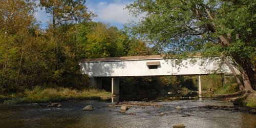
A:
<svg viewBox="0 0 256 128">
<path fill-rule="evenodd" d="M 145 15 L 134 30 L 163 52 L 222 57 L 230 68 L 240 70 L 244 83 L 240 89 L 253 91 L 255 0 L 136 0 L 127 8 L 134 15 Z"/>
</svg>

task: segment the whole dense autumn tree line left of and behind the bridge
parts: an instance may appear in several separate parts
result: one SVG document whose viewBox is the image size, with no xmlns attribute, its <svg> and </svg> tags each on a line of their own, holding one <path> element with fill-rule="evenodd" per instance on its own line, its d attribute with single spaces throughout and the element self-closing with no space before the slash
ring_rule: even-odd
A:
<svg viewBox="0 0 256 128">
<path fill-rule="evenodd" d="M 126 31 L 92 22 L 96 15 L 84 0 L 0 0 L 0 92 L 35 86 L 88 86 L 82 58 L 151 54 L 144 42 Z M 45 8 L 52 22 L 45 30 L 34 14 Z"/>
</svg>

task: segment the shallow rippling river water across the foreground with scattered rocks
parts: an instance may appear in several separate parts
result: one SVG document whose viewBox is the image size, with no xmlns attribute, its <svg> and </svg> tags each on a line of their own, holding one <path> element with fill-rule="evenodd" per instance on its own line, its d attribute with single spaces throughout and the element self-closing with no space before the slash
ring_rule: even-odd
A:
<svg viewBox="0 0 256 128">
<path fill-rule="evenodd" d="M 232 105 L 216 100 L 177 100 L 154 102 L 161 107 L 132 107 L 126 115 L 112 108 L 109 102 L 85 100 L 60 102 L 60 108 L 48 108 L 47 103 L 0 104 L 0 127 L 256 127 L 256 115 L 242 111 L 198 108 L 204 105 Z M 48 103 L 49 104 L 49 103 Z M 94 111 L 82 111 L 92 104 Z M 176 106 L 182 110 L 176 110 Z M 163 116 L 159 116 L 164 113 Z M 183 115 L 189 117 L 182 117 Z"/>
</svg>

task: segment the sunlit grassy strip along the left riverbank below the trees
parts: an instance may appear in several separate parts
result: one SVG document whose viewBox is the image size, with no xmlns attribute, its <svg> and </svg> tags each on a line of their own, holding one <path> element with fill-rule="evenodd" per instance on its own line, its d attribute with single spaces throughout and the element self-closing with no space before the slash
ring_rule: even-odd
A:
<svg viewBox="0 0 256 128">
<path fill-rule="evenodd" d="M 31 103 L 31 102 L 56 102 L 65 100 L 82 100 L 82 99 L 108 99 L 111 93 L 104 90 L 87 89 L 87 90 L 71 90 L 68 88 L 39 88 L 26 90 L 23 94 L 12 94 L 3 96 L 11 98 L 5 100 L 4 103 Z"/>
</svg>

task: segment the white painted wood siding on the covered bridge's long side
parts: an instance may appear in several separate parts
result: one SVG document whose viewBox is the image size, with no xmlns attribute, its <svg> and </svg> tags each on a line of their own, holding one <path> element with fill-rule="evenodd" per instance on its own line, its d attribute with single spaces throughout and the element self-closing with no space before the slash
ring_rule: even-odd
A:
<svg viewBox="0 0 256 128">
<path fill-rule="evenodd" d="M 177 59 L 124 60 L 106 62 L 80 62 L 82 74 L 89 77 L 125 77 L 125 76 L 165 76 L 165 75 L 198 75 L 211 74 L 220 68 L 220 59 L 188 58 L 182 61 L 183 66 L 175 66 Z M 196 62 L 190 62 L 196 60 Z M 159 61 L 158 69 L 149 69 L 146 62 Z M 205 63 L 202 63 L 204 61 Z M 172 65 L 173 64 L 173 65 Z M 226 65 L 218 73 L 231 73 Z"/>
</svg>

